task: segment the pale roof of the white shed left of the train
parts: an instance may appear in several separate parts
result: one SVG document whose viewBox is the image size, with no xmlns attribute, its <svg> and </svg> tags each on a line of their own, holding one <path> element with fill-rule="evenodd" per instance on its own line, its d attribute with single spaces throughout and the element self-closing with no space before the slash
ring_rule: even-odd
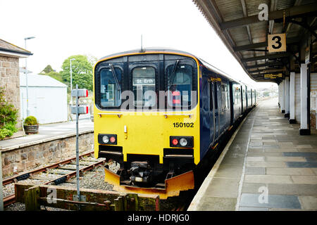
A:
<svg viewBox="0 0 317 225">
<path fill-rule="evenodd" d="M 20 75 L 20 86 L 26 86 L 25 75 Z M 47 75 L 27 75 L 27 86 L 67 87 L 66 84 Z"/>
</svg>

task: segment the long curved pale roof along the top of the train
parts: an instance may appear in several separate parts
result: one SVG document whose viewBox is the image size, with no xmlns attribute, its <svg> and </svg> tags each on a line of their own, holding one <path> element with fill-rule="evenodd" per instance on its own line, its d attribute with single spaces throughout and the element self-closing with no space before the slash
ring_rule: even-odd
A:
<svg viewBox="0 0 317 225">
<path fill-rule="evenodd" d="M 152 48 L 145 48 L 145 49 L 133 49 L 133 50 L 130 50 L 130 51 L 122 51 L 122 52 L 119 52 L 119 53 L 113 53 L 111 55 L 108 55 L 108 56 L 104 56 L 103 58 L 101 58 L 100 60 L 103 60 L 105 58 L 112 58 L 112 57 L 116 57 L 116 56 L 120 56 L 120 55 L 126 55 L 126 54 L 133 54 L 133 53 L 147 53 L 147 52 L 155 52 L 155 51 L 158 51 L 158 52 L 164 52 L 166 51 L 166 53 L 181 53 L 181 54 L 185 54 L 185 55 L 189 55 L 189 56 L 192 56 L 194 58 L 197 58 L 197 60 L 199 60 L 199 63 L 201 65 L 204 65 L 206 68 L 208 68 L 209 70 L 213 70 L 214 72 L 232 80 L 232 81 L 235 81 L 239 84 L 244 84 L 240 81 L 237 81 L 237 79 L 231 77 L 230 75 L 228 75 L 226 72 L 223 72 L 222 70 L 214 67 L 213 65 L 207 63 L 205 60 L 202 60 L 201 58 L 197 57 L 197 56 L 194 56 L 192 53 L 189 53 L 187 51 L 180 51 L 178 49 L 170 49 L 170 48 L 160 48 L 160 47 L 152 47 Z M 247 85 L 247 84 L 244 84 L 244 85 Z M 247 85 L 249 86 L 249 85 Z"/>
</svg>

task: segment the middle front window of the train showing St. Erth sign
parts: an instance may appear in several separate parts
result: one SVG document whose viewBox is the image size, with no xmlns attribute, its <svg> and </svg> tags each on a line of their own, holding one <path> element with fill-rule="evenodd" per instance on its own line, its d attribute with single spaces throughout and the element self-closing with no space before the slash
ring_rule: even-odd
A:
<svg viewBox="0 0 317 225">
<path fill-rule="evenodd" d="M 153 67 L 137 67 L 132 70 L 133 94 L 135 106 L 156 105 L 155 69 Z"/>
</svg>

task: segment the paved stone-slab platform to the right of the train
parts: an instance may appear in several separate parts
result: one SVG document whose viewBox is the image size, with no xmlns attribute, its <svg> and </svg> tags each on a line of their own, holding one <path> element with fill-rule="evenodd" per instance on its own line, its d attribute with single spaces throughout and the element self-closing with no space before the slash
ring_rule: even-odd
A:
<svg viewBox="0 0 317 225">
<path fill-rule="evenodd" d="M 280 113 L 277 98 L 261 101 L 233 134 L 188 210 L 317 210 L 316 129 L 300 136 L 299 124 Z"/>
</svg>

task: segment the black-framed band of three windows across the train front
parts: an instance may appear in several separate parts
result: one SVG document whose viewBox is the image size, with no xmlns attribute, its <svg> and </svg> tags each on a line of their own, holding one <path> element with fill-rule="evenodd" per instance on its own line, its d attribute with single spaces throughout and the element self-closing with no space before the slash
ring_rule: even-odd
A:
<svg viewBox="0 0 317 225">
<path fill-rule="evenodd" d="M 197 105 L 197 63 L 177 55 L 118 57 L 95 67 L 95 103 L 108 110 L 189 110 Z M 140 61 L 139 61 L 140 60 Z"/>
</svg>

